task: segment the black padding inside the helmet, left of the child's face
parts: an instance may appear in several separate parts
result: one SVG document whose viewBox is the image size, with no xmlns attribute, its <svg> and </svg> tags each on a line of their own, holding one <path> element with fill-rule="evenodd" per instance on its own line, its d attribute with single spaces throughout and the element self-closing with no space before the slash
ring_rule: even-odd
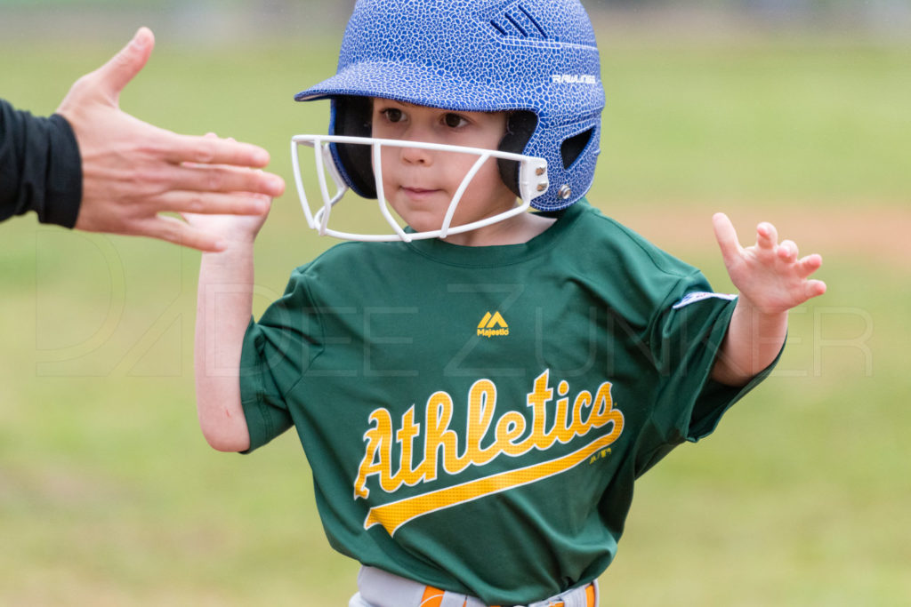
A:
<svg viewBox="0 0 911 607">
<path fill-rule="evenodd" d="M 333 99 L 333 104 L 333 135 L 370 137 L 373 114 L 370 97 L 338 96 Z M 365 198 L 376 197 L 376 181 L 370 150 L 370 146 L 333 144 L 333 154 L 342 166 L 348 185 L 355 193 Z"/>
</svg>

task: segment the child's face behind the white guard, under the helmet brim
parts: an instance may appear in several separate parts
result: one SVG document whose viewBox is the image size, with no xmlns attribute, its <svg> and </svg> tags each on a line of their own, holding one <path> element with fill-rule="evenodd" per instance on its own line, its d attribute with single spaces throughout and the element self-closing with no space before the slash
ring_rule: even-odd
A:
<svg viewBox="0 0 911 607">
<path fill-rule="evenodd" d="M 505 112 L 456 112 L 374 99 L 373 137 L 496 150 L 506 125 Z M 442 227 L 446 209 L 477 156 L 384 147 L 382 159 L 389 204 L 409 226 L 429 231 Z M 491 217 L 515 205 L 516 195 L 500 178 L 496 158 L 489 158 L 466 189 L 451 225 Z"/>
</svg>

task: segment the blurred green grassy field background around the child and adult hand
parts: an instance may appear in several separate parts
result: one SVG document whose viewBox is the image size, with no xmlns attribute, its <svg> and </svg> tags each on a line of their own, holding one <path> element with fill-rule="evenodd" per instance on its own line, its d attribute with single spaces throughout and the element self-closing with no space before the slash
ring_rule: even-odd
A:
<svg viewBox="0 0 911 607">
<path fill-rule="evenodd" d="M 257 313 L 333 244 L 288 145 L 327 106 L 351 3 L 0 1 L 0 96 L 38 115 L 138 25 L 121 106 L 271 151 L 289 191 L 257 242 Z M 824 255 L 763 386 L 639 484 L 608 605 L 911 604 L 911 5 L 589 3 L 608 106 L 589 198 L 732 287 L 711 213 Z M 0 225 L 0 604 L 343 605 L 292 433 L 210 450 L 192 379 L 199 254 Z"/>
</svg>

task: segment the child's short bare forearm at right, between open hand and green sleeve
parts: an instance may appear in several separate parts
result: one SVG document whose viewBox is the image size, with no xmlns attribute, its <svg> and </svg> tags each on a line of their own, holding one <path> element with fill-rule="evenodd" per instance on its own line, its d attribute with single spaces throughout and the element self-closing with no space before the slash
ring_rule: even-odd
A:
<svg viewBox="0 0 911 607">
<path fill-rule="evenodd" d="M 712 379 L 730 386 L 745 385 L 773 363 L 784 345 L 787 330 L 787 311 L 761 312 L 745 298 L 738 298 L 711 371 Z"/>
</svg>

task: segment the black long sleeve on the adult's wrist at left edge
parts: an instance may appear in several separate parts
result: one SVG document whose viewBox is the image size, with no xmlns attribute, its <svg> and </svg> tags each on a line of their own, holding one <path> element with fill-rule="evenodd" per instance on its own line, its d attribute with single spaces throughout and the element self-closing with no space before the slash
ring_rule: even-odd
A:
<svg viewBox="0 0 911 607">
<path fill-rule="evenodd" d="M 35 211 L 73 228 L 82 200 L 82 161 L 66 118 L 17 111 L 0 99 L 0 221 Z"/>
</svg>

